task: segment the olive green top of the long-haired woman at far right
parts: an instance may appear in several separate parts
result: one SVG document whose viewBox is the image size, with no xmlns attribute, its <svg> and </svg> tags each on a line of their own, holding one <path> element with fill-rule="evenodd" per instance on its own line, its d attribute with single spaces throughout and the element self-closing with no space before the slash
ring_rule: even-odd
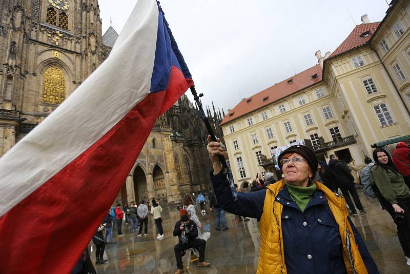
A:
<svg viewBox="0 0 410 274">
<path fill-rule="evenodd" d="M 408 187 L 404 183 L 403 176 L 391 170 L 385 170 L 377 165 L 370 169 L 370 182 L 376 184 L 380 194 L 387 202 L 397 204 L 396 198 L 405 199 L 410 197 Z"/>
</svg>

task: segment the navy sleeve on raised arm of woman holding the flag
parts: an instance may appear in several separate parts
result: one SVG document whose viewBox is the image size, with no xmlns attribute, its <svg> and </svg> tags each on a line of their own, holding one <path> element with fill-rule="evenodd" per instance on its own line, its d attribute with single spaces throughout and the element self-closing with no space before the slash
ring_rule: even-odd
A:
<svg viewBox="0 0 410 274">
<path fill-rule="evenodd" d="M 211 181 L 214 186 L 216 200 L 224 210 L 238 216 L 260 220 L 263 212 L 266 189 L 248 193 L 239 192 L 238 200 L 235 201 L 228 179 L 222 175 L 222 172 L 219 172 L 219 174 L 215 176 L 213 176 L 211 172 Z"/>
</svg>

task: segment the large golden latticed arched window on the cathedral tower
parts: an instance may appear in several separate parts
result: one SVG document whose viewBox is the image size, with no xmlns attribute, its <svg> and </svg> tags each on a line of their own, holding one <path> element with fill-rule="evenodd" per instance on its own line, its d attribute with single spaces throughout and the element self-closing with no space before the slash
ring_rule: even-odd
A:
<svg viewBox="0 0 410 274">
<path fill-rule="evenodd" d="M 43 74 L 42 102 L 61 104 L 66 99 L 66 78 L 57 67 L 48 68 Z"/>
</svg>

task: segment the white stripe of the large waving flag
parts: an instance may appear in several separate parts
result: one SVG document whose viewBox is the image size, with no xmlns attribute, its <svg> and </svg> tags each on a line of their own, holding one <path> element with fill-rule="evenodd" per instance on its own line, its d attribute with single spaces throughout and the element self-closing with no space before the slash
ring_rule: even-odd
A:
<svg viewBox="0 0 410 274">
<path fill-rule="evenodd" d="M 98 141 L 150 92 L 156 1 L 139 0 L 129 21 L 138 25 L 127 23 L 110 57 L 0 159 L 0 216 Z"/>
</svg>

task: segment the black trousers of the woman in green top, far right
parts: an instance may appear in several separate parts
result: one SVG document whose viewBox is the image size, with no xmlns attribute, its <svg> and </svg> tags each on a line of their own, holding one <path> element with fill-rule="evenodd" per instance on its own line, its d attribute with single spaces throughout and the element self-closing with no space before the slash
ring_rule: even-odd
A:
<svg viewBox="0 0 410 274">
<path fill-rule="evenodd" d="M 394 220 L 393 207 L 389 207 L 387 211 L 392 216 L 393 221 L 395 221 L 396 223 L 397 237 L 399 238 L 399 242 L 400 242 L 401 248 L 403 249 L 404 256 L 407 256 L 410 258 L 410 198 L 407 198 L 407 199 L 396 198 L 396 200 L 397 200 L 397 204 L 404 210 L 404 219 L 397 221 L 397 222 L 396 220 Z"/>
</svg>

